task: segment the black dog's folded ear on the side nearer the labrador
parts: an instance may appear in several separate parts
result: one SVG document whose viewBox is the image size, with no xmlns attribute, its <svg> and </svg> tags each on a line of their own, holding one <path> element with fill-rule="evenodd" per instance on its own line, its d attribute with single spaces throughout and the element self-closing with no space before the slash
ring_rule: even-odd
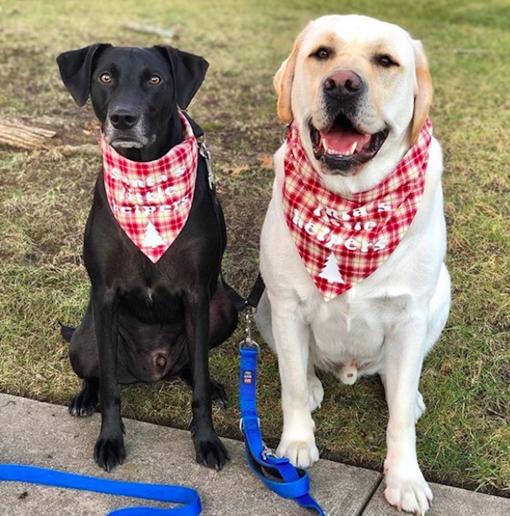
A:
<svg viewBox="0 0 510 516">
<path fill-rule="evenodd" d="M 203 57 L 182 52 L 172 46 L 158 45 L 156 48 L 170 61 L 177 104 L 186 109 L 203 83 L 209 63 Z"/>
</svg>

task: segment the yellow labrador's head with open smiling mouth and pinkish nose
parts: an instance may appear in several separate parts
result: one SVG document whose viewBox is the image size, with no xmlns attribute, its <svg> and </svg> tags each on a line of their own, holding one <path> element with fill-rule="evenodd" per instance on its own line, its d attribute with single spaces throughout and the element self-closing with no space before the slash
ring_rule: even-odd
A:
<svg viewBox="0 0 510 516">
<path fill-rule="evenodd" d="M 432 101 L 421 43 L 359 15 L 310 22 L 274 84 L 280 119 L 296 121 L 310 159 L 330 175 L 358 174 L 375 156 L 394 167 Z"/>
</svg>

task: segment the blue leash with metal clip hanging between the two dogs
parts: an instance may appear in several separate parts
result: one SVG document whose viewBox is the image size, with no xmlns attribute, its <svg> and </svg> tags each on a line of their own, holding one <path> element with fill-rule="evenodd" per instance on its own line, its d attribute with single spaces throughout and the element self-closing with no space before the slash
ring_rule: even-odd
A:
<svg viewBox="0 0 510 516">
<path fill-rule="evenodd" d="M 239 397 L 241 430 L 244 434 L 246 459 L 253 473 L 267 487 L 284 498 L 293 498 L 301 507 L 326 516 L 322 507 L 310 495 L 310 481 L 306 470 L 293 466 L 288 458 L 277 458 L 262 441 L 257 414 L 257 358 L 258 345 L 246 340 L 241 346 Z"/>
</svg>

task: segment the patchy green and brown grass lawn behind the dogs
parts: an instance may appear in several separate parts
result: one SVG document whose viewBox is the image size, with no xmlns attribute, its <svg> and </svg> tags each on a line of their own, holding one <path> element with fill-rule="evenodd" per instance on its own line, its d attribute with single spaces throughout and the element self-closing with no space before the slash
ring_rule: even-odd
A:
<svg viewBox="0 0 510 516">
<path fill-rule="evenodd" d="M 210 61 L 190 111 L 208 130 L 214 154 L 230 238 L 227 277 L 247 292 L 273 178 L 267 156 L 281 135 L 273 74 L 307 20 L 365 13 L 423 40 L 445 158 L 453 302 L 423 370 L 427 412 L 417 426 L 418 457 L 431 480 L 510 495 L 507 0 L 4 0 L 0 7 L 0 108 L 58 132 L 48 150 L 0 149 L 0 390 L 64 404 L 79 388 L 57 320 L 76 324 L 85 310 L 82 235 L 99 160 L 65 157 L 58 146 L 94 144 L 97 124 L 90 107 L 75 106 L 60 84 L 55 56 L 95 41 L 162 42 L 123 28 L 138 23 L 176 30 L 178 38 L 167 43 Z M 215 411 L 215 425 L 239 437 L 233 338 L 213 353 L 211 366 L 232 401 Z M 364 378 L 346 387 L 322 379 L 325 402 L 315 414 L 322 456 L 380 469 L 387 421 L 380 382 Z M 265 347 L 259 383 L 264 434 L 275 445 L 282 424 L 278 368 Z M 181 428 L 190 420 L 190 392 L 178 380 L 123 388 L 122 402 L 125 416 Z"/>
</svg>

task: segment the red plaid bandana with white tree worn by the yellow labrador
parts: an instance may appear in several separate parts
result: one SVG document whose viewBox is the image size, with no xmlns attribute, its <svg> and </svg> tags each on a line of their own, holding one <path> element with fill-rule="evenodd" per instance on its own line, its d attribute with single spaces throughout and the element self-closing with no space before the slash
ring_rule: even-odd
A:
<svg viewBox="0 0 510 516">
<path fill-rule="evenodd" d="M 395 170 L 369 191 L 338 195 L 325 189 L 290 127 L 282 202 L 301 260 L 326 301 L 370 276 L 399 245 L 425 187 L 432 123 Z"/>
</svg>

